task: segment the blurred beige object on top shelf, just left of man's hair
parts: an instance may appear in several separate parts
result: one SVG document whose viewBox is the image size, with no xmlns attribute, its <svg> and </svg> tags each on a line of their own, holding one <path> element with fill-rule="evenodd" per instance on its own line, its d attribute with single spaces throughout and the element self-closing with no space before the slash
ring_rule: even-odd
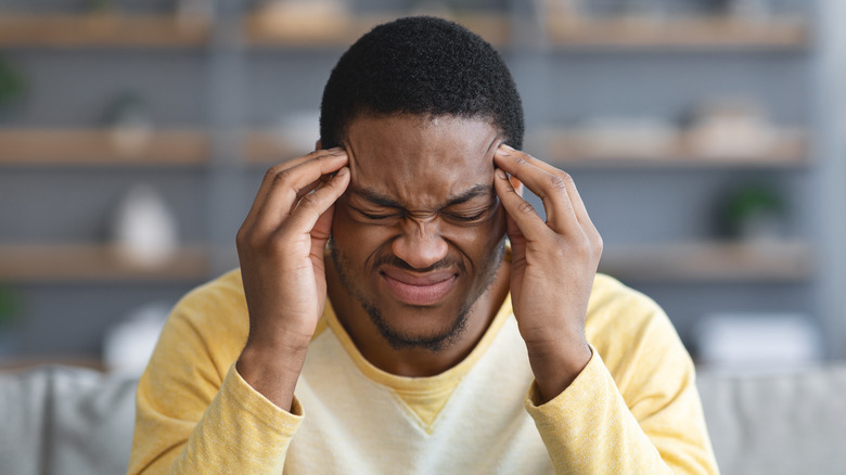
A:
<svg viewBox="0 0 846 475">
<path fill-rule="evenodd" d="M 269 36 L 316 40 L 336 37 L 348 16 L 344 0 L 265 0 L 256 25 Z"/>
</svg>

